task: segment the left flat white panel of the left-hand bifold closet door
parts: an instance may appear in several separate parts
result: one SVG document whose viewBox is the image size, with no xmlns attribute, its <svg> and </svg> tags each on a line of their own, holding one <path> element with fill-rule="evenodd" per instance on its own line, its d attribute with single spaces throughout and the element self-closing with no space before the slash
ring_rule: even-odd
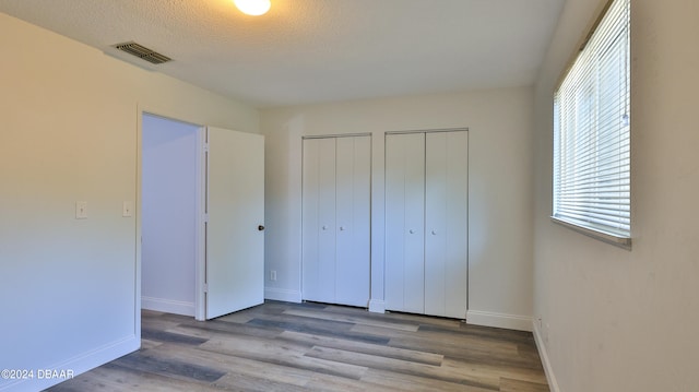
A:
<svg viewBox="0 0 699 392">
<path fill-rule="evenodd" d="M 335 141 L 304 140 L 303 297 L 331 301 L 335 285 Z"/>
</svg>

